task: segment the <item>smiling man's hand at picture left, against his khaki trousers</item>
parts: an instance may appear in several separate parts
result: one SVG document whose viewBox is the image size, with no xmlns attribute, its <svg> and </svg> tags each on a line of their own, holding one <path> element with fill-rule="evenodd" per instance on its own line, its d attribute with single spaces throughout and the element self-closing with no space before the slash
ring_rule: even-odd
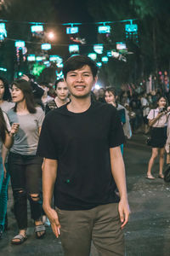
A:
<svg viewBox="0 0 170 256">
<path fill-rule="evenodd" d="M 47 209 L 46 207 L 43 206 L 43 210 L 46 213 L 49 222 L 51 224 L 51 228 L 54 232 L 54 235 L 58 238 L 60 235 L 60 224 L 59 224 L 59 218 L 57 212 L 53 208 Z"/>
</svg>

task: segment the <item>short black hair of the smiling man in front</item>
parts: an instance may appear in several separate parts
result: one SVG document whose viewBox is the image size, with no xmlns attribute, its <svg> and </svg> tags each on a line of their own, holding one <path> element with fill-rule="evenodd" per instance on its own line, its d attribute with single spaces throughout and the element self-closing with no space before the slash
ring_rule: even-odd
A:
<svg viewBox="0 0 170 256">
<path fill-rule="evenodd" d="M 74 55 L 74 56 L 71 56 L 67 61 L 65 61 L 65 64 L 63 67 L 63 73 L 64 73 L 65 79 L 68 72 L 80 69 L 86 65 L 90 67 L 93 73 L 93 77 L 95 78 L 98 73 L 98 67 L 96 65 L 96 62 L 90 59 L 87 55 Z"/>
</svg>

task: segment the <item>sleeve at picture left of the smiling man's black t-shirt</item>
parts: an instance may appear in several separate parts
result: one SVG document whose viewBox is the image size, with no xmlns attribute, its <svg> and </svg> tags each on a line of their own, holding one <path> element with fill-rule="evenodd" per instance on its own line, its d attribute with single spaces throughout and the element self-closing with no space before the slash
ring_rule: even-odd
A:
<svg viewBox="0 0 170 256">
<path fill-rule="evenodd" d="M 58 160 L 59 154 L 54 143 L 54 138 L 50 129 L 50 123 L 51 122 L 47 116 L 42 123 L 42 130 L 37 145 L 37 155 L 52 160 Z"/>
</svg>

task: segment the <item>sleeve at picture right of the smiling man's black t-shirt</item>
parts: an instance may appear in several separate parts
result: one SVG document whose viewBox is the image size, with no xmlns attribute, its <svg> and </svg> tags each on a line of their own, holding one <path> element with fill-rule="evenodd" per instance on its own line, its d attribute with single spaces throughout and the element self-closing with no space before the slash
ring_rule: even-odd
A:
<svg viewBox="0 0 170 256">
<path fill-rule="evenodd" d="M 109 147 L 116 148 L 125 143 L 125 136 L 122 129 L 121 120 L 116 109 L 113 109 L 111 114 L 111 128 L 109 136 Z"/>
</svg>

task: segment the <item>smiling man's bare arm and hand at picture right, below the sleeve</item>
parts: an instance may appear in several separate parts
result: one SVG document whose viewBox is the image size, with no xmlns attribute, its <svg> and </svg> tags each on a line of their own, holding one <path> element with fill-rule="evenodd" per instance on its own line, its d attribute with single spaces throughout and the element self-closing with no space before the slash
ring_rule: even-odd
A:
<svg viewBox="0 0 170 256">
<path fill-rule="evenodd" d="M 116 182 L 120 194 L 119 214 L 122 222 L 122 228 L 127 224 L 130 209 L 127 200 L 127 185 L 125 176 L 125 167 L 122 159 L 121 148 L 110 148 L 111 154 L 111 172 Z"/>
</svg>

